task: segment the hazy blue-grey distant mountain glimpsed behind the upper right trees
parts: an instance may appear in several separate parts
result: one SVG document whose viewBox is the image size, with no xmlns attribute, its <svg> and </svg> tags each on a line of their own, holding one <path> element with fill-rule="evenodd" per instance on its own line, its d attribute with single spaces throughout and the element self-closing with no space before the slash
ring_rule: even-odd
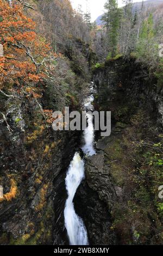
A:
<svg viewBox="0 0 163 256">
<path fill-rule="evenodd" d="M 147 10 L 148 8 L 155 8 L 158 7 L 160 4 L 163 4 L 163 0 L 147 0 L 143 3 L 144 10 Z M 142 2 L 134 3 L 133 11 L 140 10 L 142 6 Z M 103 22 L 101 21 L 103 14 L 98 16 L 96 19 L 97 25 L 103 25 Z"/>
</svg>

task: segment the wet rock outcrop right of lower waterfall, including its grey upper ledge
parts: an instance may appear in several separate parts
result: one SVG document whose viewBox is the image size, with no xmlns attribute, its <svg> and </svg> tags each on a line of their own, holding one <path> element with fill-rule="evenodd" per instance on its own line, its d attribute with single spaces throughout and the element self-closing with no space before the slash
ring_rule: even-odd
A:
<svg viewBox="0 0 163 256">
<path fill-rule="evenodd" d="M 98 149 L 104 149 L 106 141 L 98 141 Z M 86 157 L 85 161 L 86 177 L 74 199 L 75 207 L 86 225 L 90 245 L 116 244 L 116 236 L 111 230 L 110 212 L 117 199 L 109 163 L 105 162 L 103 150 Z"/>
</svg>

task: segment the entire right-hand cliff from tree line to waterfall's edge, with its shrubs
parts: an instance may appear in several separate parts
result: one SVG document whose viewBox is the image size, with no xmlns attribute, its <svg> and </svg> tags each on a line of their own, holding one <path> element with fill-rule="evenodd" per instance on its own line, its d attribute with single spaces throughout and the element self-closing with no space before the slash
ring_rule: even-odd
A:
<svg viewBox="0 0 163 256">
<path fill-rule="evenodd" d="M 155 78 L 123 58 L 94 74 L 94 105 L 111 111 L 112 132 L 97 139 L 97 155 L 86 158 L 86 179 L 75 200 L 90 243 L 162 243 L 162 117 Z"/>
</svg>

